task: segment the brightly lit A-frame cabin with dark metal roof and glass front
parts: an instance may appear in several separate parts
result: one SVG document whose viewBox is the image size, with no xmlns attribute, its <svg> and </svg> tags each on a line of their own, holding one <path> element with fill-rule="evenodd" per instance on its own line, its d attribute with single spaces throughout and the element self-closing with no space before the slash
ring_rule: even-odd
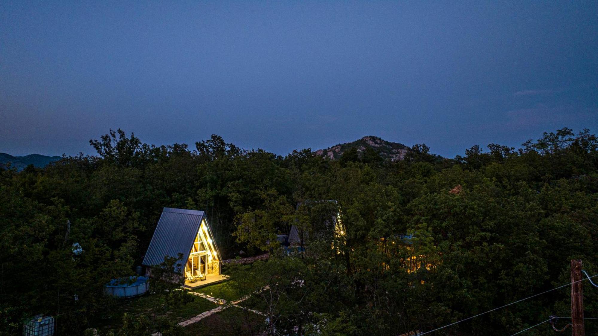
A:
<svg viewBox="0 0 598 336">
<path fill-rule="evenodd" d="M 164 207 L 154 236 L 145 253 L 143 264 L 151 267 L 161 264 L 165 256 L 182 254 L 175 273 L 185 277 L 186 286 L 199 286 L 224 279 L 220 275 L 221 256 L 205 212 Z"/>
</svg>

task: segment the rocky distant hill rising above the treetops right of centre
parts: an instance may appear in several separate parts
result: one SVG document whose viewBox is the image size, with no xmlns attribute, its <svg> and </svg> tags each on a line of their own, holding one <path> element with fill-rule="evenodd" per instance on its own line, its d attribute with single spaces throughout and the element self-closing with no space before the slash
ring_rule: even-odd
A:
<svg viewBox="0 0 598 336">
<path fill-rule="evenodd" d="M 407 152 L 410 151 L 410 148 L 402 143 L 390 142 L 370 135 L 353 142 L 339 143 L 326 149 L 318 149 L 315 153 L 323 157 L 328 157 L 331 160 L 338 160 L 349 149 L 357 148 L 358 152 L 363 152 L 368 147 L 374 149 L 381 157 L 390 161 L 403 160 Z"/>
</svg>

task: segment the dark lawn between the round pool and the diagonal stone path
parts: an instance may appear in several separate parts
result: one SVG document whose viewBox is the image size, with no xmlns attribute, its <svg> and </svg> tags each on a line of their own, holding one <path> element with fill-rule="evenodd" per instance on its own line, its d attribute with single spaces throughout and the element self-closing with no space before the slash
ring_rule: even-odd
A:
<svg viewBox="0 0 598 336">
<path fill-rule="evenodd" d="M 196 295 L 187 294 L 195 300 L 190 303 L 181 304 L 178 307 L 173 307 L 163 314 L 156 314 L 155 317 L 167 316 L 169 319 L 181 322 L 182 320 L 190 319 L 203 311 L 218 307 L 217 304 L 211 303 L 205 298 L 197 297 Z M 115 299 L 116 300 L 116 299 Z M 114 307 L 110 314 L 107 314 L 106 319 L 102 322 L 103 330 L 118 328 L 122 325 L 123 314 L 129 313 L 135 316 L 144 314 L 149 319 L 153 318 L 153 309 L 159 307 L 166 301 L 164 295 L 143 295 L 137 298 L 116 300 Z"/>
</svg>

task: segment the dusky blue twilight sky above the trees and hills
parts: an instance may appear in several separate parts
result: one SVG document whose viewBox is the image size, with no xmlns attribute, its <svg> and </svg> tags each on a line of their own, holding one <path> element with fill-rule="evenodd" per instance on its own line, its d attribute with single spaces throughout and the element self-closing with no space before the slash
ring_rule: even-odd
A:
<svg viewBox="0 0 598 336">
<path fill-rule="evenodd" d="M 0 152 L 598 133 L 598 2 L 0 2 Z"/>
</svg>

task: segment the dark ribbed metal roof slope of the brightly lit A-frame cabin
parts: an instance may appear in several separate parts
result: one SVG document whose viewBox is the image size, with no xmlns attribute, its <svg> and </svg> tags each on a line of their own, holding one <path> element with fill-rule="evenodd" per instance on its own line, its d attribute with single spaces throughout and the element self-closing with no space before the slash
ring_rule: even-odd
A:
<svg viewBox="0 0 598 336">
<path fill-rule="evenodd" d="M 145 253 L 143 264 L 158 265 L 164 261 L 164 256 L 176 257 L 182 253 L 183 258 L 179 262 L 185 265 L 204 216 L 204 212 L 199 210 L 165 207 Z"/>
</svg>

